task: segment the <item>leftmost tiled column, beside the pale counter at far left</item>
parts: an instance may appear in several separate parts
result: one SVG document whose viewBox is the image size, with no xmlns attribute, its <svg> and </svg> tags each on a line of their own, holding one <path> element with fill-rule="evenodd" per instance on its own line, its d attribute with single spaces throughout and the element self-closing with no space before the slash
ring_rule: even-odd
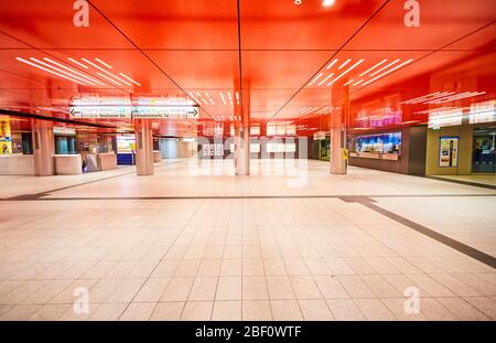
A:
<svg viewBox="0 0 496 343">
<path fill-rule="evenodd" d="M 55 143 L 53 125 L 47 120 L 33 119 L 31 122 L 34 146 L 34 174 L 50 176 L 55 174 Z"/>
</svg>

